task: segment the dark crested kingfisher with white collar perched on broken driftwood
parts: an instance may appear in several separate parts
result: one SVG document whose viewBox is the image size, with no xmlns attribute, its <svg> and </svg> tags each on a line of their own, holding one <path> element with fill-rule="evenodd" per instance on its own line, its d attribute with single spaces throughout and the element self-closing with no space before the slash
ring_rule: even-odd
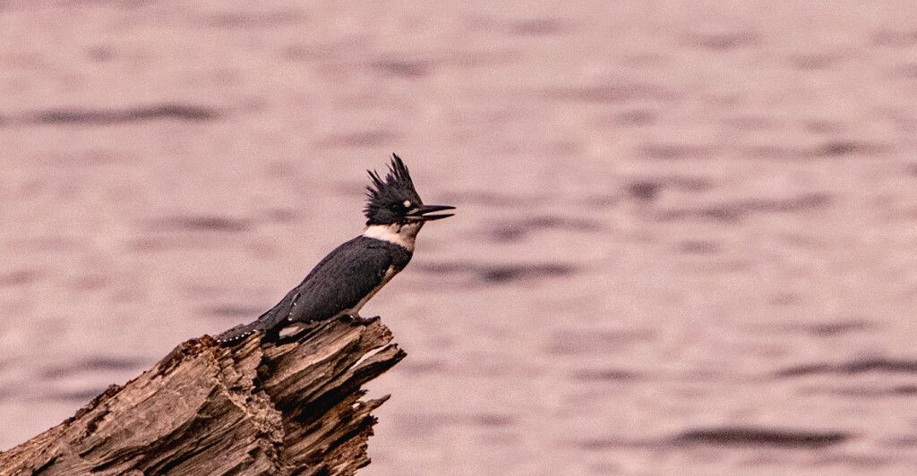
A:
<svg viewBox="0 0 917 476">
<path fill-rule="evenodd" d="M 235 345 L 259 330 L 265 331 L 262 339 L 275 341 L 290 327 L 307 329 L 345 317 L 357 322 L 378 319 L 361 318 L 359 309 L 411 261 L 424 224 L 453 216 L 437 212 L 455 207 L 425 205 L 397 154 L 392 154 L 384 179 L 378 172 L 368 172 L 363 233 L 327 254 L 276 306 L 249 324 L 218 334 L 216 341 Z"/>
</svg>

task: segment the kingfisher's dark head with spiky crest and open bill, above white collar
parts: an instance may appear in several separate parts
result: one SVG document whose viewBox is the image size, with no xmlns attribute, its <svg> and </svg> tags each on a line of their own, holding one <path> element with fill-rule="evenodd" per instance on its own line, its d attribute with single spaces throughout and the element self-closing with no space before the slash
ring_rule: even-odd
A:
<svg viewBox="0 0 917 476">
<path fill-rule="evenodd" d="M 371 225 L 422 225 L 452 216 L 452 213 L 438 213 L 436 211 L 455 210 L 448 205 L 424 205 L 420 195 L 414 189 L 411 174 L 404 166 L 401 157 L 392 154 L 392 163 L 385 179 L 372 170 L 370 179 L 372 183 L 367 189 L 366 224 Z M 419 226 L 417 226 L 419 228 Z"/>
</svg>

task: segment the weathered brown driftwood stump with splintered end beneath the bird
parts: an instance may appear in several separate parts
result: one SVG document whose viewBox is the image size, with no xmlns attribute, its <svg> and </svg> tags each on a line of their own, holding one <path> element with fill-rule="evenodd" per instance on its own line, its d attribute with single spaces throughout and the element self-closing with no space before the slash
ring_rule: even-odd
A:
<svg viewBox="0 0 917 476">
<path fill-rule="evenodd" d="M 75 416 L 0 453 L 0 475 L 353 474 L 370 463 L 362 384 L 405 353 L 378 320 L 286 343 L 186 341 Z"/>
</svg>

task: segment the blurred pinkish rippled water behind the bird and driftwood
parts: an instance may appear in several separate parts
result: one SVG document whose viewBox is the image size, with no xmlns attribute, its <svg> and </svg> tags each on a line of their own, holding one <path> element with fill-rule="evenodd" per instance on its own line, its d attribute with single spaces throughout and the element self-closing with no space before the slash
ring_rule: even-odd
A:
<svg viewBox="0 0 917 476">
<path fill-rule="evenodd" d="M 271 308 L 399 153 L 367 476 L 912 474 L 910 1 L 0 4 L 0 449 Z"/>
</svg>

